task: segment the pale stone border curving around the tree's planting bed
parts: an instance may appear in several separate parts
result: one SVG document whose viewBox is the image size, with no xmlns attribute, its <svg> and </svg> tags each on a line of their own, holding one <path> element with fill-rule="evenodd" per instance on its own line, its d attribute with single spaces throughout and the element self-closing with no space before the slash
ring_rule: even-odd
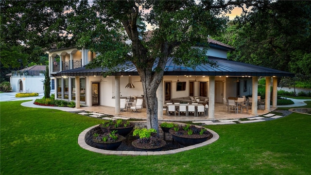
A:
<svg viewBox="0 0 311 175">
<path fill-rule="evenodd" d="M 185 124 L 185 123 L 178 123 L 178 124 Z M 211 144 L 211 143 L 213 143 L 213 142 L 215 142 L 216 140 L 219 139 L 219 135 L 216 132 L 206 128 L 207 131 L 209 131 L 213 135 L 213 137 L 211 139 L 206 140 L 206 141 L 204 141 L 202 143 L 195 144 L 195 145 L 185 146 L 183 148 L 177 148 L 177 149 L 167 150 L 167 151 L 114 151 L 114 150 L 104 150 L 104 149 L 98 149 L 98 148 L 92 147 L 92 146 L 90 146 L 90 145 L 88 145 L 86 143 L 86 134 L 90 130 L 92 130 L 92 129 L 98 127 L 98 126 L 99 126 L 99 124 L 97 124 L 95 126 L 91 126 L 91 127 L 87 128 L 87 129 L 85 129 L 84 131 L 82 131 L 79 134 L 79 137 L 78 137 L 78 144 L 83 149 L 86 149 L 88 151 L 92 151 L 92 152 L 95 152 L 95 153 L 105 154 L 105 155 L 150 156 L 150 155 L 175 154 L 175 153 L 179 153 L 179 152 L 183 152 L 183 151 L 187 151 L 187 150 L 191 150 L 191 149 L 194 149 L 194 148 L 198 148 L 198 147 L 202 147 L 202 146 Z M 197 126 L 197 127 L 202 127 L 202 126 Z"/>
</svg>

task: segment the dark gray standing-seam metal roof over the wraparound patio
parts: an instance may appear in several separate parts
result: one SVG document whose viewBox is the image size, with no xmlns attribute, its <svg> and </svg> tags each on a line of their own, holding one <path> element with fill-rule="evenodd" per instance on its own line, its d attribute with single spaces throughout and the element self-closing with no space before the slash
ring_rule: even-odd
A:
<svg viewBox="0 0 311 175">
<path fill-rule="evenodd" d="M 169 58 L 165 66 L 164 75 L 214 75 L 214 76 L 294 76 L 294 73 L 265 68 L 262 66 L 255 66 L 251 64 L 230 61 L 224 58 L 208 57 L 210 61 L 216 62 L 216 67 L 208 64 L 202 64 L 191 69 L 189 67 L 178 66 L 173 63 L 173 58 Z M 138 75 L 137 69 L 133 63 L 127 62 L 120 66 L 121 71 L 113 73 L 112 75 Z M 92 76 L 101 75 L 107 69 L 96 68 L 86 69 L 77 68 L 73 70 L 66 70 L 58 72 L 57 76 Z"/>
</svg>

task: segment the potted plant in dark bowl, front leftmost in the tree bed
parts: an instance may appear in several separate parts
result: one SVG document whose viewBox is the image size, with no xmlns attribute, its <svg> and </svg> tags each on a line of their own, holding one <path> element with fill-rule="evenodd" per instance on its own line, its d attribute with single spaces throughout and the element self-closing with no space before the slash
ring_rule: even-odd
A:
<svg viewBox="0 0 311 175">
<path fill-rule="evenodd" d="M 117 130 L 111 131 L 110 133 L 98 134 L 94 133 L 93 142 L 95 147 L 105 150 L 117 149 L 125 137 L 116 134 Z"/>
</svg>

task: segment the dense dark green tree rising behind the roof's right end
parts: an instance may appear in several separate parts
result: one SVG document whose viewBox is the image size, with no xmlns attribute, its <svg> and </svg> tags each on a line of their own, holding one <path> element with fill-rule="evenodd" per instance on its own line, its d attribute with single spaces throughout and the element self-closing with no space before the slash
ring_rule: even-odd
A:
<svg viewBox="0 0 311 175">
<path fill-rule="evenodd" d="M 265 1 L 228 24 L 222 41 L 236 48 L 229 59 L 310 74 L 311 1 Z"/>
</svg>

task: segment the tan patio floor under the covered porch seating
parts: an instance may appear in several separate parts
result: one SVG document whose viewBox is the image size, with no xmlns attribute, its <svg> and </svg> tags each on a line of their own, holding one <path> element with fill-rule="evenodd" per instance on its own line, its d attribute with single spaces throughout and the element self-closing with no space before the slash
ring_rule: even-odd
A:
<svg viewBox="0 0 311 175">
<path fill-rule="evenodd" d="M 88 111 L 88 112 L 97 112 L 102 114 L 108 114 L 108 115 L 114 115 L 119 117 L 128 117 L 132 119 L 146 119 L 146 108 L 143 108 L 142 110 L 139 110 L 139 112 L 132 112 L 131 110 L 128 110 L 125 112 L 120 112 L 119 115 L 115 115 L 115 107 L 110 106 L 85 106 L 81 107 L 81 109 Z M 270 108 L 271 111 L 275 110 L 276 108 Z M 250 117 L 256 117 L 259 115 L 264 115 L 269 112 L 264 111 L 263 109 L 257 110 L 258 115 L 252 115 L 251 109 L 248 109 L 248 114 L 246 113 L 246 110 L 244 109 L 242 113 L 234 113 L 234 111 L 230 111 L 228 113 L 225 109 L 223 109 L 222 103 L 215 104 L 215 120 L 228 120 L 228 119 L 242 119 L 242 118 L 250 118 Z M 178 116 L 178 113 L 176 113 L 176 116 L 171 115 L 167 116 L 165 110 L 163 110 L 163 117 L 158 118 L 159 121 L 206 121 L 209 120 L 208 116 L 185 116 L 180 115 Z"/>
</svg>

